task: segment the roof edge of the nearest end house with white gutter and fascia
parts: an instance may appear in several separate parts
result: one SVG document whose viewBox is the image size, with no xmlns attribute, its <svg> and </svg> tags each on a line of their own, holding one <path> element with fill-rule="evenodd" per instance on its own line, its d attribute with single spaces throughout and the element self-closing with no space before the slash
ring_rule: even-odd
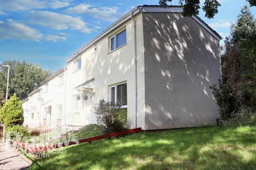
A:
<svg viewBox="0 0 256 170">
<path fill-rule="evenodd" d="M 173 13 L 181 13 L 183 11 L 183 6 L 169 6 L 166 8 L 161 8 L 158 5 L 143 5 L 143 6 L 136 6 L 131 11 L 129 11 L 127 14 L 125 14 L 123 17 L 121 17 L 119 20 L 114 22 L 111 26 L 103 30 L 101 33 L 99 33 L 96 37 L 94 37 L 92 40 L 87 42 L 85 45 L 83 45 L 81 48 L 79 48 L 74 54 L 72 54 L 69 58 L 67 58 L 64 62 L 70 62 L 73 60 L 76 56 L 81 54 L 86 48 L 88 48 L 90 45 L 93 45 L 96 41 L 100 40 L 102 37 L 104 37 L 106 34 L 108 34 L 110 31 L 115 29 L 116 27 L 120 26 L 125 21 L 129 20 L 130 13 L 132 12 L 133 15 L 139 13 L 139 12 L 173 12 Z M 212 28 L 210 28 L 201 18 L 197 16 L 192 16 L 192 18 L 198 22 L 201 26 L 203 26 L 207 31 L 209 31 L 210 34 L 212 34 L 217 40 L 221 40 L 222 37 L 214 31 Z"/>
</svg>

